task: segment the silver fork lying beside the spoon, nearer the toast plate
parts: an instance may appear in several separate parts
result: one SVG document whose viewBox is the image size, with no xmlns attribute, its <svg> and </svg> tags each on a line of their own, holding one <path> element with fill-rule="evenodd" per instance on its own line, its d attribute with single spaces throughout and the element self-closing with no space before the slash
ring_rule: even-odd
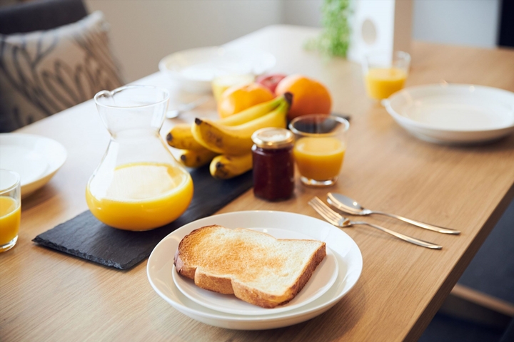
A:
<svg viewBox="0 0 514 342">
<path fill-rule="evenodd" d="M 346 228 L 351 227 L 355 224 L 366 224 L 366 226 L 370 226 L 376 229 L 381 230 L 382 232 L 393 235 L 393 237 L 398 237 L 398 239 L 402 239 L 403 241 L 410 242 L 411 244 L 417 244 L 421 247 L 426 247 L 430 249 L 442 249 L 443 246 L 439 246 L 437 244 L 433 244 L 431 242 L 426 242 L 420 239 L 415 239 L 414 237 L 408 237 L 406 235 L 394 232 L 393 230 L 377 226 L 376 224 L 371 224 L 368 222 L 353 222 L 346 217 L 341 216 L 337 212 L 334 212 L 328 205 L 326 205 L 321 199 L 318 197 L 314 197 L 308 202 L 311 207 L 313 207 L 318 214 L 320 214 L 324 219 L 327 220 L 328 223 L 333 224 L 336 227 Z"/>
</svg>

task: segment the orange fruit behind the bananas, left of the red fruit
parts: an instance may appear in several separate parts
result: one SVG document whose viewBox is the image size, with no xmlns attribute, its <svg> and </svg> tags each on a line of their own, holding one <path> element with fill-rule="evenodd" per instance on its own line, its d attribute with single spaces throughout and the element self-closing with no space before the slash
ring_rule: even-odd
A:
<svg viewBox="0 0 514 342">
<path fill-rule="evenodd" d="M 226 118 L 253 105 L 273 100 L 274 97 L 275 95 L 268 88 L 257 83 L 233 86 L 221 95 L 221 100 L 218 102 L 218 114 L 221 118 Z"/>
</svg>

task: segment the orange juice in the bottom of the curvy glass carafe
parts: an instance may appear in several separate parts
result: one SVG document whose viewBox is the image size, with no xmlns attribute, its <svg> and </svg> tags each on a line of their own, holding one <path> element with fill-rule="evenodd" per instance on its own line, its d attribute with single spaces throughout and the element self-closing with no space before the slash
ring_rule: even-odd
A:
<svg viewBox="0 0 514 342">
<path fill-rule="evenodd" d="M 136 180 L 136 181 L 135 181 Z M 167 164 L 134 163 L 114 169 L 111 182 L 91 182 L 86 201 L 105 224 L 127 230 L 148 230 L 174 221 L 193 198 L 193 180 L 186 170 Z"/>
</svg>

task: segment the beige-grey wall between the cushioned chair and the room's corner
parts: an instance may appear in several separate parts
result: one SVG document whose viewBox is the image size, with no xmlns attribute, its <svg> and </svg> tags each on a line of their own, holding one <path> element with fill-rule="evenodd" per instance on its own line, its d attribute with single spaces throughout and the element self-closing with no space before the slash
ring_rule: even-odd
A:
<svg viewBox="0 0 514 342">
<path fill-rule="evenodd" d="M 282 21 L 281 0 L 86 0 L 111 25 L 127 81 L 158 71 L 175 51 L 216 46 Z"/>
</svg>

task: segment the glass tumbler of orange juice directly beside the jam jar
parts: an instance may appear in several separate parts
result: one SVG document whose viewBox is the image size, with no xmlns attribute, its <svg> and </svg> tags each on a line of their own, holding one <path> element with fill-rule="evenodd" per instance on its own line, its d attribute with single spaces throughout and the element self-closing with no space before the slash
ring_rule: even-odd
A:
<svg viewBox="0 0 514 342">
<path fill-rule="evenodd" d="M 293 155 L 303 185 L 327 187 L 338 180 L 348 140 L 348 120 L 326 114 L 302 115 L 289 124 Z"/>
</svg>

